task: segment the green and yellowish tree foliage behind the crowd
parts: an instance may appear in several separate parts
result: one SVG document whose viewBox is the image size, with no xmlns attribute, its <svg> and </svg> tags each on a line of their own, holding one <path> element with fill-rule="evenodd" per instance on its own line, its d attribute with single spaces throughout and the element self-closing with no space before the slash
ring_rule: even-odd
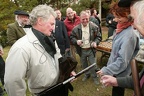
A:
<svg viewBox="0 0 144 96">
<path fill-rule="evenodd" d="M 106 17 L 109 5 L 113 1 L 116 0 L 101 0 L 102 17 Z M 99 0 L 0 0 L 0 43 L 3 47 L 7 46 L 7 25 L 15 21 L 14 11 L 24 10 L 29 13 L 32 8 L 39 4 L 47 4 L 54 9 L 60 9 L 63 16 L 65 16 L 68 7 L 73 8 L 77 14 L 86 8 L 96 8 L 98 10 Z"/>
</svg>

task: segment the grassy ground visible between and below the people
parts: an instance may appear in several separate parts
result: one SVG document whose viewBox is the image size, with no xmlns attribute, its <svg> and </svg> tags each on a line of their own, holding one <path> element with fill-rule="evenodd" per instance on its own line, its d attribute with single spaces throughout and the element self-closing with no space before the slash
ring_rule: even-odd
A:
<svg viewBox="0 0 144 96">
<path fill-rule="evenodd" d="M 102 27 L 103 30 L 103 40 L 107 38 L 107 28 L 106 27 Z M 3 57 L 6 58 L 8 51 L 9 51 L 10 47 L 6 47 L 4 48 L 4 55 Z M 97 52 L 97 64 L 98 66 L 101 68 L 102 66 L 105 66 L 106 62 L 107 62 L 107 58 L 104 58 L 103 62 L 100 63 L 100 56 L 101 53 Z M 77 71 L 82 70 L 81 68 L 81 64 L 79 61 L 79 56 L 77 55 L 77 60 L 78 60 L 78 66 L 77 66 Z M 102 85 L 95 85 L 92 78 L 88 79 L 86 82 L 82 82 L 82 77 L 83 75 L 81 75 L 80 77 L 77 78 L 76 81 L 72 82 L 72 85 L 74 87 L 74 91 L 69 93 L 69 96 L 111 96 L 111 87 L 105 87 L 102 88 Z M 130 89 L 126 89 L 125 91 L 125 96 L 132 96 L 133 91 Z M 5 96 L 7 96 L 5 94 Z M 27 92 L 27 96 L 30 96 L 30 93 Z"/>
</svg>

